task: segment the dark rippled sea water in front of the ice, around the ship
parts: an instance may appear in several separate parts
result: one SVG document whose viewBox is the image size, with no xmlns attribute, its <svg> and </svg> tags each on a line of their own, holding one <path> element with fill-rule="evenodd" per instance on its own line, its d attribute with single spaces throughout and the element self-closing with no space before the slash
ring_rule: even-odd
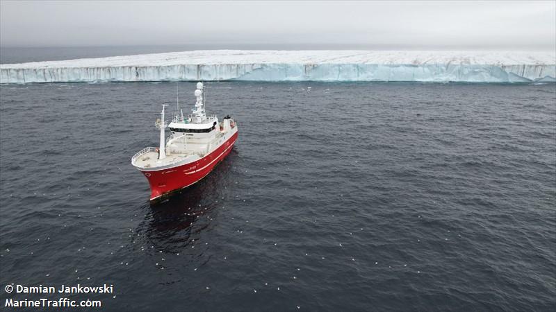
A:
<svg viewBox="0 0 556 312">
<path fill-rule="evenodd" d="M 554 83 L 208 83 L 238 142 L 151 206 L 130 158 L 176 85 L 0 85 L 2 305 L 554 311 Z"/>
</svg>

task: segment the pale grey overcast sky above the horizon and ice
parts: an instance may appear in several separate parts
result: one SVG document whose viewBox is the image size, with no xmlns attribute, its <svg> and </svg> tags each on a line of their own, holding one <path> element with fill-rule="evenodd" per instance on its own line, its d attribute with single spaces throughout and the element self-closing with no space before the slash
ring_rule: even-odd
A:
<svg viewBox="0 0 556 312">
<path fill-rule="evenodd" d="M 556 49 L 556 1 L 0 1 L 0 45 Z"/>
</svg>

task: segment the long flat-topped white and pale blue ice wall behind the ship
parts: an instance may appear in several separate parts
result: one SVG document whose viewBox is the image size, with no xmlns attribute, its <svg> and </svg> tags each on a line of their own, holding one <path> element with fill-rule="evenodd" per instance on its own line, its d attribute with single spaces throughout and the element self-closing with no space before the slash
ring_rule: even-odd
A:
<svg viewBox="0 0 556 312">
<path fill-rule="evenodd" d="M 214 50 L 0 64 L 0 83 L 165 80 L 556 81 L 556 54 Z"/>
</svg>

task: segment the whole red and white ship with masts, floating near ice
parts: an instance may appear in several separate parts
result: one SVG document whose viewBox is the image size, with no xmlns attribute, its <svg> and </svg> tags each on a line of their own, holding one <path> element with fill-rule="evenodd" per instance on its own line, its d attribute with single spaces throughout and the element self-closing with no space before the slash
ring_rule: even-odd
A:
<svg viewBox="0 0 556 312">
<path fill-rule="evenodd" d="M 206 116 L 204 85 L 197 83 L 195 109 L 188 116 L 177 111 L 172 122 L 165 121 L 162 105 L 161 118 L 155 125 L 160 130 L 158 147 L 147 147 L 131 157 L 131 164 L 149 181 L 151 200 L 165 197 L 172 191 L 189 187 L 211 173 L 213 168 L 226 157 L 238 138 L 238 125 L 225 116 L 218 121 L 216 116 Z M 165 130 L 170 136 L 166 138 Z"/>
</svg>

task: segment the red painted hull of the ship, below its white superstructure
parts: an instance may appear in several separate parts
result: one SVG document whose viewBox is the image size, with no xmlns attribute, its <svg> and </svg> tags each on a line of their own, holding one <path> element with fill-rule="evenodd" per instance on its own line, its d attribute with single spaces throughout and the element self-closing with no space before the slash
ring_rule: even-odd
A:
<svg viewBox="0 0 556 312">
<path fill-rule="evenodd" d="M 158 171 L 141 170 L 145 177 L 147 177 L 147 180 L 149 180 L 151 200 L 161 198 L 172 191 L 189 187 L 208 175 L 208 173 L 211 173 L 213 168 L 230 153 L 237 138 L 238 132 L 234 133 L 234 135 L 210 154 L 195 162 L 172 168 L 164 168 Z"/>
</svg>

